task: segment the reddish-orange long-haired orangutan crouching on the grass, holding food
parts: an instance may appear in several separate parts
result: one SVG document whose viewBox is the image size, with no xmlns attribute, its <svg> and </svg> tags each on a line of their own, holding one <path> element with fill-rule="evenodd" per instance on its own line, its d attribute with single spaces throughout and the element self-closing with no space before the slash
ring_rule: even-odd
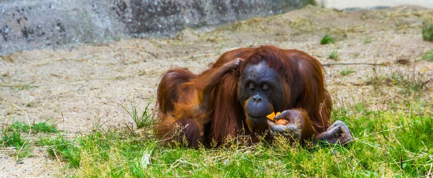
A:
<svg viewBox="0 0 433 178">
<path fill-rule="evenodd" d="M 165 73 L 158 86 L 157 132 L 167 140 L 220 143 L 227 136 L 276 132 L 301 142 L 311 139 L 345 144 L 352 140 L 342 121 L 329 126 L 331 99 L 323 67 L 314 57 L 275 46 L 224 53 L 208 70 L 195 75 L 185 69 Z M 282 112 L 281 112 L 282 111 Z M 267 115 L 281 112 L 275 120 Z M 175 128 L 181 128 L 177 136 Z"/>
</svg>

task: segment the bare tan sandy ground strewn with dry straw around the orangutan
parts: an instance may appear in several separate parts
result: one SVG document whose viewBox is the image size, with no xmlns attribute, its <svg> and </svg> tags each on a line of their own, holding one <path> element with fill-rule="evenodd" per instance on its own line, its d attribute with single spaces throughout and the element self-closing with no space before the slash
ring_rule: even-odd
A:
<svg viewBox="0 0 433 178">
<path fill-rule="evenodd" d="M 417 7 L 350 12 L 307 7 L 213 30 L 185 29 L 171 40 L 17 52 L 0 58 L 0 123 L 50 118 L 70 136 L 89 132 L 94 123 L 123 126 L 132 120 L 122 106 L 129 108 L 132 103 L 143 108 L 156 96 L 164 71 L 180 67 L 199 73 L 225 51 L 262 44 L 303 50 L 323 64 L 387 64 L 325 67 L 335 105 L 361 102 L 372 95 L 373 87 L 366 83 L 374 71 L 383 76 L 415 71 L 431 78 L 433 63 L 415 62 L 433 49 L 433 43 L 424 42 L 421 35 L 422 20 L 428 16 L 433 16 L 432 10 Z M 336 43 L 320 45 L 325 34 L 336 37 Z M 327 58 L 333 50 L 339 61 Z M 396 63 L 400 59 L 410 63 Z M 344 69 L 355 73 L 342 76 Z M 368 103 L 383 104 L 387 97 L 398 96 L 396 87 L 384 87 L 389 95 L 369 98 Z M 430 89 L 428 102 L 432 95 Z M 59 176 L 61 163 L 40 148 L 34 154 L 17 164 L 11 149 L 0 150 L 0 177 Z"/>
</svg>

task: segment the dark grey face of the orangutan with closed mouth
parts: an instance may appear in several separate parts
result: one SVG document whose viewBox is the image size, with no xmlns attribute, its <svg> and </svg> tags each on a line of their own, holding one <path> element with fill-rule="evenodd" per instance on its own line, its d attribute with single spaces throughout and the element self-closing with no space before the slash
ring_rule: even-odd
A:
<svg viewBox="0 0 433 178">
<path fill-rule="evenodd" d="M 245 67 L 238 96 L 244 107 L 248 129 L 260 133 L 268 129 L 266 116 L 281 110 L 284 88 L 278 73 L 262 61 Z"/>
</svg>

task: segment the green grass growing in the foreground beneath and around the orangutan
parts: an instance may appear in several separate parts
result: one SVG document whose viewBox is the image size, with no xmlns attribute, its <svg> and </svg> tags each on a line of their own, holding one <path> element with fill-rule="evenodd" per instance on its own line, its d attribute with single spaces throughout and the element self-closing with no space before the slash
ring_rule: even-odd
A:
<svg viewBox="0 0 433 178">
<path fill-rule="evenodd" d="M 394 75 L 398 82 L 417 81 Z M 152 125 L 144 125 L 144 132 L 100 126 L 75 138 L 45 134 L 27 143 L 19 136 L 24 127 L 17 125 L 2 140 L 10 140 L 3 146 L 44 149 L 62 162 L 66 177 L 424 177 L 433 164 L 433 108 L 421 98 L 396 99 L 386 110 L 372 110 L 368 103 L 334 108 L 332 121 L 347 123 L 355 138 L 347 146 L 303 146 L 277 137 L 272 144 L 242 145 L 235 144 L 242 139 L 230 138 L 221 147 L 187 149 L 163 145 Z M 140 119 L 153 115 L 134 112 L 131 117 Z"/>
</svg>

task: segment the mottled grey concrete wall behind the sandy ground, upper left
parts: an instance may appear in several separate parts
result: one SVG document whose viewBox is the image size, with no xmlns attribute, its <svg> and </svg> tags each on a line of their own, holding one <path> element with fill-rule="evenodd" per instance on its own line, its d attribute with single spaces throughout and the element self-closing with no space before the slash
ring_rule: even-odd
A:
<svg viewBox="0 0 433 178">
<path fill-rule="evenodd" d="M 128 38 L 268 16 L 310 0 L 0 0 L 0 54 Z"/>
</svg>

